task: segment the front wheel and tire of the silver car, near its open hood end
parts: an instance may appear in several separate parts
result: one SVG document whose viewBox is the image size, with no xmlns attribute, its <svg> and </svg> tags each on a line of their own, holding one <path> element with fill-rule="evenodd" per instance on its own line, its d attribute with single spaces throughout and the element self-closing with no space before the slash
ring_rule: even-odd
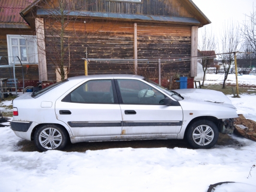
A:
<svg viewBox="0 0 256 192">
<path fill-rule="evenodd" d="M 188 143 L 196 149 L 209 149 L 219 138 L 219 130 L 210 120 L 197 120 L 188 128 Z"/>
</svg>

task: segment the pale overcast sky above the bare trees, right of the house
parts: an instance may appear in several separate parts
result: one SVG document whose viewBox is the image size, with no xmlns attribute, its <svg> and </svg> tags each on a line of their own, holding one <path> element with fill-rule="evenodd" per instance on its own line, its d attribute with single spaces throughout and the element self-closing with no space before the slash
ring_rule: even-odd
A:
<svg viewBox="0 0 256 192">
<path fill-rule="evenodd" d="M 219 38 L 219 31 L 228 21 L 243 24 L 245 14 L 256 10 L 256 0 L 193 0 L 195 5 L 207 16 L 211 24 L 206 25 L 207 30 Z M 199 28 L 198 40 L 203 27 Z"/>
</svg>

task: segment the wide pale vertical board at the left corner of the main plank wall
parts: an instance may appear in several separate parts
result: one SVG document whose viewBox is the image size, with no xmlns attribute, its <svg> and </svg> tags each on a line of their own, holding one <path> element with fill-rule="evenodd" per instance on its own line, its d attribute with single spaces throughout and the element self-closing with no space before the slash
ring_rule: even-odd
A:
<svg viewBox="0 0 256 192">
<path fill-rule="evenodd" d="M 44 19 L 36 18 L 39 81 L 48 81 L 45 49 Z"/>
</svg>

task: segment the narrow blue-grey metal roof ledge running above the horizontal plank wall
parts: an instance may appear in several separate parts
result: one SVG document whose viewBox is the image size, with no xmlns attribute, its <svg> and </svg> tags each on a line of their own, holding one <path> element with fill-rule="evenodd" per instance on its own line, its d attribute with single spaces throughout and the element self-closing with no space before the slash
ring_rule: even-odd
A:
<svg viewBox="0 0 256 192">
<path fill-rule="evenodd" d="M 45 11 L 42 9 L 37 10 L 37 16 L 39 17 L 53 14 L 53 13 L 56 15 L 59 14 L 59 12 L 55 10 L 52 10 L 52 11 Z M 160 21 L 160 22 L 167 22 L 167 23 L 170 22 L 170 23 L 183 23 L 183 24 L 195 24 L 195 25 L 200 24 L 200 22 L 197 21 L 195 18 L 188 18 L 188 17 L 123 14 L 123 13 L 110 13 L 110 12 L 70 12 L 69 15 L 71 16 L 78 15 L 81 17 L 92 17 L 92 18 L 140 20 L 140 21 L 147 21 L 147 22 Z"/>
</svg>

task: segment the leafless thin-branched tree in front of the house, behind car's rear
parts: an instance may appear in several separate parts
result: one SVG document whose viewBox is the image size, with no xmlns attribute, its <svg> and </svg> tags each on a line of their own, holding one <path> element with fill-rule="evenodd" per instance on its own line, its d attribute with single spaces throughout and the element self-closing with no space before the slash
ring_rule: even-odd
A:
<svg viewBox="0 0 256 192">
<path fill-rule="evenodd" d="M 55 66 L 61 80 L 64 80 L 69 72 L 70 63 L 74 62 L 76 53 L 73 44 L 86 38 L 84 33 L 78 33 L 77 30 L 85 27 L 84 21 L 80 19 L 85 15 L 81 11 L 90 5 L 77 5 L 72 0 L 42 0 L 40 4 L 35 4 L 37 10 L 44 15 L 45 26 L 45 39 L 38 40 L 44 40 L 46 48 L 39 49 L 44 49 L 41 52 L 46 54 L 46 58 Z M 65 70 L 66 68 L 68 70 Z"/>
</svg>

